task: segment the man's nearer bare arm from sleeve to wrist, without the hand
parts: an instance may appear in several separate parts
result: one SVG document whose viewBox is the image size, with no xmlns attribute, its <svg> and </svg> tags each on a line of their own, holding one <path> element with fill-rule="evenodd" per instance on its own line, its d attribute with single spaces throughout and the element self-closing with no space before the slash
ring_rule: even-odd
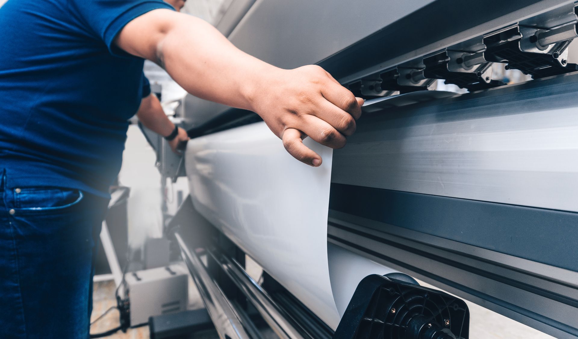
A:
<svg viewBox="0 0 578 339">
<path fill-rule="evenodd" d="M 118 38 L 120 44 L 131 54 L 157 62 L 192 95 L 254 110 L 254 97 L 266 85 L 265 78 L 272 78 L 281 70 L 240 51 L 206 21 L 167 12 L 155 10 L 144 14 L 146 20 L 142 22 L 146 25 L 142 27 L 127 25 L 131 30 L 153 36 L 147 48 L 132 48 L 138 42 L 123 41 L 124 31 Z M 151 22 L 160 24 L 151 25 Z M 158 25 L 163 26 L 160 32 L 147 32 L 148 27 Z"/>
</svg>

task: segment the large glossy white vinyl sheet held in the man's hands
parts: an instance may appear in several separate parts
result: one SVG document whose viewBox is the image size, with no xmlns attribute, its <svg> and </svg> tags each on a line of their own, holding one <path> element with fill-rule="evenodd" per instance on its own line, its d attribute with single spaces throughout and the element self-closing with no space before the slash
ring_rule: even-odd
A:
<svg viewBox="0 0 578 339">
<path fill-rule="evenodd" d="M 335 329 L 359 281 L 393 271 L 336 246 L 328 255 L 332 150 L 305 144 L 320 167 L 295 160 L 264 122 L 195 138 L 187 177 L 199 213 Z"/>
</svg>

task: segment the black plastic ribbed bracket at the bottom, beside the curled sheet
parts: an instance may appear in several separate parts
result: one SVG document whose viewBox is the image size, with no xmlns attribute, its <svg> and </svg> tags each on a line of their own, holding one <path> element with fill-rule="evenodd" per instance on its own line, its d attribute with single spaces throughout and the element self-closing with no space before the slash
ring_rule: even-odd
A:
<svg viewBox="0 0 578 339">
<path fill-rule="evenodd" d="M 372 274 L 361 280 L 333 339 L 468 339 L 466 303 L 447 293 Z"/>
</svg>

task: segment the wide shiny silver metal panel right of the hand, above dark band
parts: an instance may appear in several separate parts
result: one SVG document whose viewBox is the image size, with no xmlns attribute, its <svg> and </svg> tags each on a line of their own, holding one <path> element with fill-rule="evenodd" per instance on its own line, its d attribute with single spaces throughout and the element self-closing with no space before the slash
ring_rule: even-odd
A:
<svg viewBox="0 0 578 339">
<path fill-rule="evenodd" d="M 334 150 L 331 181 L 578 212 L 576 82 L 573 73 L 370 106 L 377 110 L 358 121 L 347 147 Z"/>
</svg>

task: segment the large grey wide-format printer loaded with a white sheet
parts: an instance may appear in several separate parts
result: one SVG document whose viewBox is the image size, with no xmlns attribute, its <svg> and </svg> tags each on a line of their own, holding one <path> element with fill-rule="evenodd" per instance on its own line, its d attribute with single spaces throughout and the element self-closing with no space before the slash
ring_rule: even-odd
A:
<svg viewBox="0 0 578 339">
<path fill-rule="evenodd" d="M 184 100 L 190 197 L 166 234 L 221 338 L 258 337 L 247 301 L 281 338 L 468 338 L 465 303 L 412 277 L 578 337 L 575 6 L 230 1 L 216 26 L 237 47 L 323 66 L 371 105 L 345 148 L 306 141 L 310 168 L 254 113 Z"/>
</svg>

